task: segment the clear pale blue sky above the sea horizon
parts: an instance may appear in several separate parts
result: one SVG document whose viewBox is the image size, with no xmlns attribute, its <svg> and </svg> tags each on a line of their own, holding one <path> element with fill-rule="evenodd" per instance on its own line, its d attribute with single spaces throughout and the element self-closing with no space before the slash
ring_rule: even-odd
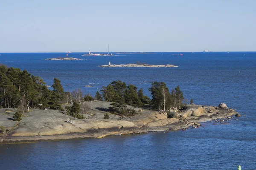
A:
<svg viewBox="0 0 256 170">
<path fill-rule="evenodd" d="M 0 0 L 0 52 L 256 51 L 255 0 Z"/>
</svg>

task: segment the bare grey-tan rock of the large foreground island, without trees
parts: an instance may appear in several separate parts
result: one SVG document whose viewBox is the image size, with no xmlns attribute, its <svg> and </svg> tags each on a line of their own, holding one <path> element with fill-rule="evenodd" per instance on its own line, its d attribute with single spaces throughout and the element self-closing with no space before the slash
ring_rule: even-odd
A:
<svg viewBox="0 0 256 170">
<path fill-rule="evenodd" d="M 25 113 L 21 121 L 11 120 L 15 110 L 0 109 L 0 124 L 8 130 L 0 133 L 0 143 L 38 142 L 66 139 L 103 138 L 105 136 L 143 134 L 148 132 L 169 132 L 198 128 L 200 122 L 215 120 L 216 123 L 232 120 L 236 111 L 229 108 L 213 106 L 186 105 L 182 111 L 171 111 L 168 114 L 137 109 L 141 114 L 130 117 L 110 115 L 103 119 L 105 111 L 99 107 L 108 102 L 89 103 L 90 114 L 86 119 L 76 119 L 64 112 L 55 110 L 33 110 Z M 95 114 L 93 114 L 95 113 Z M 73 124 L 67 122 L 73 119 Z"/>
</svg>

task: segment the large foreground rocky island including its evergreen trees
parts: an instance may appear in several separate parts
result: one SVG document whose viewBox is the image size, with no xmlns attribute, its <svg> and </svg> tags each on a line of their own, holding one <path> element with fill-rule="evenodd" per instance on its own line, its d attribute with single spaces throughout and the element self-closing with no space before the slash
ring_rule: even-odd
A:
<svg viewBox="0 0 256 170">
<path fill-rule="evenodd" d="M 0 65 L 0 142 L 102 138 L 110 135 L 169 132 L 198 128 L 200 122 L 233 121 L 235 110 L 195 105 L 183 97 L 178 85 L 171 91 L 164 82 L 152 82 L 145 96 L 143 88 L 111 82 L 95 96 L 81 89 L 65 92 L 54 78 L 48 89 L 40 77 L 19 68 Z M 13 79 L 12 75 L 17 75 Z"/>
</svg>

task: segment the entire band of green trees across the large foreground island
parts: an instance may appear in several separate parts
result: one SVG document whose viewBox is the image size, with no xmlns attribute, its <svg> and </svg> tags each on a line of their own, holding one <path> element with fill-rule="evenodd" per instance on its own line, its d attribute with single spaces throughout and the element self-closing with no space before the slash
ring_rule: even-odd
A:
<svg viewBox="0 0 256 170">
<path fill-rule="evenodd" d="M 183 106 L 183 92 L 177 86 L 171 91 L 164 82 L 152 82 L 148 90 L 151 92 L 151 99 L 145 96 L 143 89 L 135 85 L 126 85 L 121 80 L 111 82 L 103 86 L 96 96 L 83 94 L 81 89 L 72 92 L 65 92 L 61 81 L 54 78 L 53 90 L 49 90 L 41 77 L 36 77 L 21 71 L 19 68 L 7 68 L 0 65 L 0 108 L 20 108 L 24 113 L 29 108 L 49 107 L 50 109 L 63 110 L 60 102 L 68 104 L 93 101 L 112 102 L 109 109 L 120 115 L 131 116 L 136 114 L 133 107 L 151 106 L 154 110 L 162 110 L 164 113 L 170 108 L 181 108 Z M 73 110 L 76 110 L 74 107 Z M 70 111 L 73 111 L 72 109 Z M 78 113 L 77 113 L 78 114 Z M 81 112 L 80 112 L 80 117 Z"/>
</svg>

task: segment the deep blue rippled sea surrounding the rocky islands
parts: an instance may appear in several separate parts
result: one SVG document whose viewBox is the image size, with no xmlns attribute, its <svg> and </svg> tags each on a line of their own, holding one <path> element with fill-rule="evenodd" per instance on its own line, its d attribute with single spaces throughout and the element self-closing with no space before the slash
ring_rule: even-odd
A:
<svg viewBox="0 0 256 170">
<path fill-rule="evenodd" d="M 236 170 L 238 165 L 256 170 L 256 52 L 69 53 L 84 59 L 72 61 L 44 60 L 66 53 L 0 54 L 0 63 L 25 69 L 47 85 L 60 79 L 65 91 L 80 88 L 94 96 L 102 86 L 122 80 L 143 88 L 150 97 L 151 82 L 162 81 L 170 91 L 179 85 L 183 96 L 197 105 L 226 103 L 241 114 L 227 124 L 204 122 L 203 127 L 186 131 L 0 144 L 1 170 Z M 99 67 L 108 62 L 178 67 Z"/>
</svg>

